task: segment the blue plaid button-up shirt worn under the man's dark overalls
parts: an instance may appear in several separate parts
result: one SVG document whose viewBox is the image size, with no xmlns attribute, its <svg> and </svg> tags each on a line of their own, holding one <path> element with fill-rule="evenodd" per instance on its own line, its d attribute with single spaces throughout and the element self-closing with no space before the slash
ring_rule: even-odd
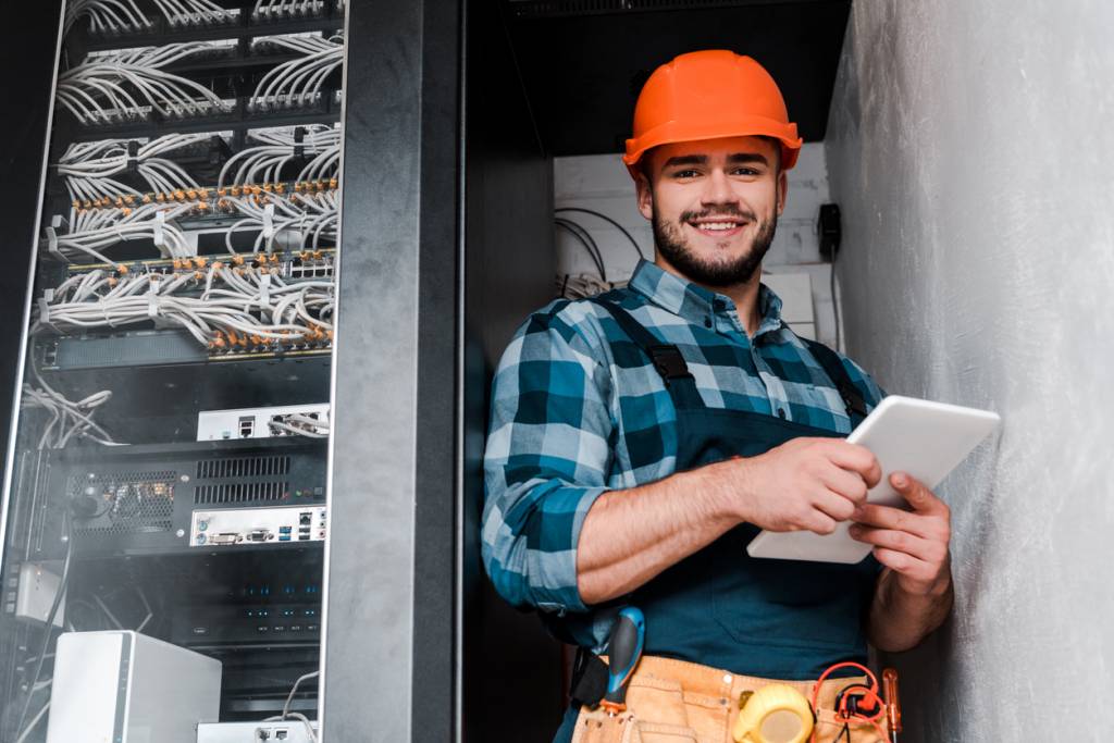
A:
<svg viewBox="0 0 1114 743">
<path fill-rule="evenodd" d="M 706 405 L 850 432 L 834 383 L 782 322 L 781 300 L 764 284 L 753 339 L 730 299 L 653 263 L 639 263 L 627 289 L 606 299 L 680 349 Z M 496 372 L 481 551 L 496 589 L 517 607 L 588 613 L 576 586 L 588 509 L 607 490 L 676 470 L 676 412 L 662 378 L 642 354 L 618 363 L 612 342 L 631 341 L 602 309 L 558 300 L 529 316 Z M 885 393 L 841 359 L 872 409 Z M 588 635 L 606 633 L 592 618 L 583 617 Z"/>
</svg>

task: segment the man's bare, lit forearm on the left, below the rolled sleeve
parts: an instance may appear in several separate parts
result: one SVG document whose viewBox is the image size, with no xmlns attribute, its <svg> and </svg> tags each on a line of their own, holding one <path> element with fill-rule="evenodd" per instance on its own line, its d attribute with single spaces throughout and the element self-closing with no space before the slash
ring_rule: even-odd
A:
<svg viewBox="0 0 1114 743">
<path fill-rule="evenodd" d="M 593 504 L 577 544 L 577 588 L 585 604 L 623 596 L 712 544 L 739 524 L 710 465 Z"/>
</svg>

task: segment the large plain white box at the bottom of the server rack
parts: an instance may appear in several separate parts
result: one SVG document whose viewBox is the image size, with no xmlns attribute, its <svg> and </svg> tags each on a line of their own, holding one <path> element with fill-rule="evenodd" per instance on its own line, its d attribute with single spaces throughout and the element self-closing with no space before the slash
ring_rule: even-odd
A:
<svg viewBox="0 0 1114 743">
<path fill-rule="evenodd" d="M 221 711 L 221 662 L 131 630 L 58 638 L 47 743 L 194 743 Z"/>
</svg>

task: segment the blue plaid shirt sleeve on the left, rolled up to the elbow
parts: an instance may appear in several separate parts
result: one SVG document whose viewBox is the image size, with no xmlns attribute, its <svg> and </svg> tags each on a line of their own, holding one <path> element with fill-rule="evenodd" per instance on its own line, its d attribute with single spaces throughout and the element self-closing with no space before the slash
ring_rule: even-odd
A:
<svg viewBox="0 0 1114 743">
<path fill-rule="evenodd" d="M 587 303 L 558 301 L 518 330 L 496 371 L 483 454 L 483 565 L 514 606 L 585 612 L 576 546 L 605 490 L 610 375 Z"/>
</svg>

